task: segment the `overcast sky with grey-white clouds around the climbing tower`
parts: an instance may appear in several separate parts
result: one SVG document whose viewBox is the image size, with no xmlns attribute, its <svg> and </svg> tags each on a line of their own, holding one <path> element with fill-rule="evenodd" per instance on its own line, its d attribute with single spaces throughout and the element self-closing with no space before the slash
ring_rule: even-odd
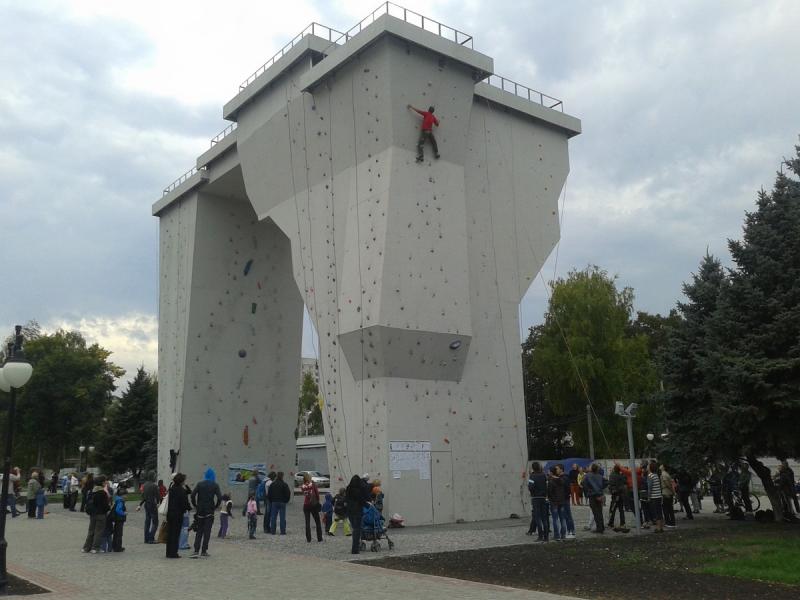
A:
<svg viewBox="0 0 800 600">
<path fill-rule="evenodd" d="M 564 222 L 544 281 L 596 264 L 667 312 L 706 251 L 728 260 L 800 133 L 800 2 L 407 0 L 472 34 L 498 74 L 564 101 Z M 156 367 L 152 203 L 223 129 L 238 84 L 309 22 L 376 2 L 0 0 L 0 336 L 77 328 Z M 313 356 L 311 338 L 304 354 Z"/>
</svg>

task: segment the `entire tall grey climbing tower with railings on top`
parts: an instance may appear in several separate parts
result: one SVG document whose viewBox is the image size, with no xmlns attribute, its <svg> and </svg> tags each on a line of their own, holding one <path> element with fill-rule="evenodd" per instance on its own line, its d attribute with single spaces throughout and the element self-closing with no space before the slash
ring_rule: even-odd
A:
<svg viewBox="0 0 800 600">
<path fill-rule="evenodd" d="M 440 159 L 415 161 L 409 104 L 435 106 Z M 160 475 L 170 450 L 190 480 L 293 471 L 305 304 L 332 486 L 367 472 L 413 524 L 523 511 L 519 303 L 580 121 L 391 3 L 309 26 L 223 116 L 153 207 Z"/>
</svg>

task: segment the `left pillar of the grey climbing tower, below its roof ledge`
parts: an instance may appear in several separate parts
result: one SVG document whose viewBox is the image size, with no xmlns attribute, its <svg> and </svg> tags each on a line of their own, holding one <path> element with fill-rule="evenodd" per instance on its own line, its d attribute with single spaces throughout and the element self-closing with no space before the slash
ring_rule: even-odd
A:
<svg viewBox="0 0 800 600">
<path fill-rule="evenodd" d="M 290 472 L 302 300 L 289 240 L 249 203 L 203 193 L 173 205 L 161 225 L 160 394 L 181 402 L 159 411 L 160 461 L 180 449 L 190 481 L 207 466 L 222 479 L 239 462 Z M 244 489 L 233 491 L 241 500 Z"/>
</svg>

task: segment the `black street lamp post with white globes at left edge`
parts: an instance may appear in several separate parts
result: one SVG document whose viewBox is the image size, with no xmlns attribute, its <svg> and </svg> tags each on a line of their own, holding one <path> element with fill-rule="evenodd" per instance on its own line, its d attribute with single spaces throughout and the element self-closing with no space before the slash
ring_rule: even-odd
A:
<svg viewBox="0 0 800 600">
<path fill-rule="evenodd" d="M 22 352 L 22 326 L 17 325 L 14 331 L 14 341 L 8 345 L 6 362 L 0 368 L 0 389 L 10 392 L 11 401 L 8 404 L 8 423 L 6 424 L 6 448 L 3 460 L 3 485 L 0 491 L 0 592 L 4 592 L 8 585 L 8 572 L 6 571 L 6 507 L 8 505 L 8 480 L 11 476 L 11 451 L 13 448 L 14 418 L 17 410 L 17 388 L 28 383 L 33 373 L 33 367 L 25 360 Z"/>
</svg>

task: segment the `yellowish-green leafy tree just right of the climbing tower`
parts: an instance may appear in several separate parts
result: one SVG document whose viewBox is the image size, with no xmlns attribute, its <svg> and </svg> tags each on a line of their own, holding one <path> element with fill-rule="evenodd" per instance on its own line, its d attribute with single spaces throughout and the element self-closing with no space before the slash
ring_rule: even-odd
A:
<svg viewBox="0 0 800 600">
<path fill-rule="evenodd" d="M 637 435 L 649 429 L 656 389 L 645 335 L 627 335 L 633 313 L 633 291 L 617 290 L 613 278 L 590 267 L 571 271 L 553 283 L 552 294 L 533 351 L 533 372 L 545 382 L 545 397 L 557 416 L 581 414 L 591 402 L 601 452 L 627 448 L 625 423 L 614 415 L 614 403 L 638 402 Z M 571 429 L 575 450 L 588 453 L 586 427 Z"/>
</svg>

